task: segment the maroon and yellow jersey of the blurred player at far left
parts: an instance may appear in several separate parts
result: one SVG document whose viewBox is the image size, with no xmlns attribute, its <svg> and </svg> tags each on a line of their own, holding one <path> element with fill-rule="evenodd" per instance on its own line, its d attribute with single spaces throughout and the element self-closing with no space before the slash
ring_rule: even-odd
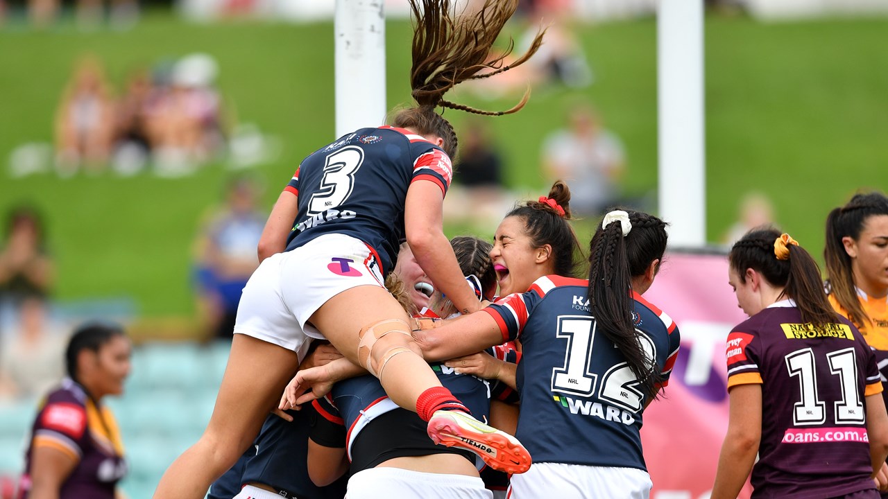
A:
<svg viewBox="0 0 888 499">
<path fill-rule="evenodd" d="M 65 379 L 37 413 L 31 431 L 20 499 L 31 489 L 34 448 L 55 448 L 74 459 L 74 471 L 62 483 L 59 499 L 114 499 L 117 481 L 126 473 L 123 445 L 114 416 L 97 407 L 80 384 Z"/>
</svg>

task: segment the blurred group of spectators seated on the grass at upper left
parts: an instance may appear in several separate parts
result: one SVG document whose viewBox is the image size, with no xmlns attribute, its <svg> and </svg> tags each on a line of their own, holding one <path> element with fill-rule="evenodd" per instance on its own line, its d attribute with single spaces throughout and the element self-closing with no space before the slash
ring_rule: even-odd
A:
<svg viewBox="0 0 888 499">
<path fill-rule="evenodd" d="M 101 61 L 81 59 L 56 115 L 59 176 L 108 167 L 131 175 L 149 163 L 158 175 L 180 176 L 221 154 L 226 124 L 217 73 L 209 55 L 192 54 L 131 72 L 116 97 Z"/>
</svg>

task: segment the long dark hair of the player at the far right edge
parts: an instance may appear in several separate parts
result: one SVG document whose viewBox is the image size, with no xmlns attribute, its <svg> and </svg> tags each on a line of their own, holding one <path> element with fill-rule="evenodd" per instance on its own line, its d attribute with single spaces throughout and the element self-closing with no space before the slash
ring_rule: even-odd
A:
<svg viewBox="0 0 888 499">
<path fill-rule="evenodd" d="M 888 197 L 881 193 L 869 193 L 856 194 L 844 206 L 830 211 L 827 217 L 823 259 L 827 265 L 830 293 L 858 328 L 866 327 L 869 315 L 860 305 L 854 289 L 851 257 L 844 250 L 842 238 L 850 237 L 857 241 L 868 218 L 878 215 L 888 215 Z"/>
</svg>

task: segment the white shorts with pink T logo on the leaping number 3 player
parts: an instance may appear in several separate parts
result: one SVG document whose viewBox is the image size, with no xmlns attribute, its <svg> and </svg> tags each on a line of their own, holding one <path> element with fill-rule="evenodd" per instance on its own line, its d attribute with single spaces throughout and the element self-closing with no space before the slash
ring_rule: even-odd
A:
<svg viewBox="0 0 888 499">
<path fill-rule="evenodd" d="M 376 253 L 344 234 L 321 235 L 259 264 L 243 288 L 234 334 L 282 346 L 302 360 L 308 337 L 323 338 L 308 319 L 327 300 L 357 286 L 385 287 Z"/>
</svg>

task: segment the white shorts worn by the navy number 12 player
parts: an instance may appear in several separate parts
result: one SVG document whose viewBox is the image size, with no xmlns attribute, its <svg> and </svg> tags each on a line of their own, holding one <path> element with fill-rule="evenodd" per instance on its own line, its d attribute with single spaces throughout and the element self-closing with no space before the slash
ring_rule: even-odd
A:
<svg viewBox="0 0 888 499">
<path fill-rule="evenodd" d="M 511 476 L 509 499 L 648 499 L 650 475 L 637 468 L 583 464 L 533 463 L 530 470 Z"/>
</svg>

